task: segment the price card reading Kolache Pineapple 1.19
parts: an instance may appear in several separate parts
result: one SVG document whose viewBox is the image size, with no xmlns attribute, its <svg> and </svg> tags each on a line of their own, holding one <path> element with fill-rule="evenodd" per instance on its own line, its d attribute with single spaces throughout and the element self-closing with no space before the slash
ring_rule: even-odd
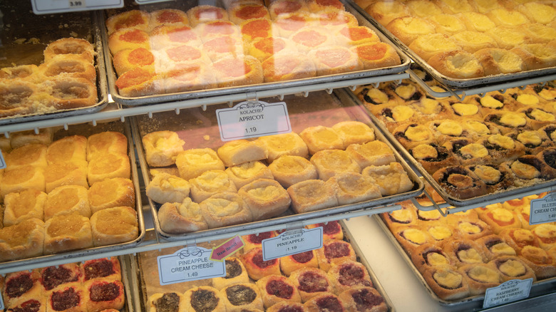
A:
<svg viewBox="0 0 556 312">
<path fill-rule="evenodd" d="M 262 260 L 268 261 L 322 248 L 322 227 L 287 231 L 279 236 L 262 240 Z"/>
</svg>

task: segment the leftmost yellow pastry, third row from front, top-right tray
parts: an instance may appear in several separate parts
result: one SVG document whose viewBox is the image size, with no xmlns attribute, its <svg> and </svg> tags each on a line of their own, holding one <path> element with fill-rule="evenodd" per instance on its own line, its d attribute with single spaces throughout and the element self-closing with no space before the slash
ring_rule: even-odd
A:
<svg viewBox="0 0 556 312">
<path fill-rule="evenodd" d="M 431 4 L 430 2 L 428 3 Z M 386 29 L 406 46 L 409 46 L 418 36 L 436 32 L 435 26 L 431 21 L 416 16 L 402 16 L 393 19 L 386 25 Z"/>
</svg>

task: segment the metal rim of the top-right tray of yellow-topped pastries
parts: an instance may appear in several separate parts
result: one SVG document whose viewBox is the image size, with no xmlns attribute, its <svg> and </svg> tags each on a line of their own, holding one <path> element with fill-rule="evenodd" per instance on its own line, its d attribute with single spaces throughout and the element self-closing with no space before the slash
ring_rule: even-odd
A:
<svg viewBox="0 0 556 312">
<path fill-rule="evenodd" d="M 405 43 L 401 42 L 396 36 L 394 36 L 390 31 L 388 31 L 388 29 L 386 29 L 385 26 L 379 24 L 379 22 L 377 22 L 375 19 L 373 19 L 371 17 L 371 15 L 369 15 L 364 10 L 364 8 L 361 8 L 361 6 L 358 6 L 357 4 L 354 4 L 353 0 L 346 0 L 346 1 L 351 2 L 351 4 L 354 6 L 356 11 L 358 11 L 359 14 L 361 14 L 361 16 L 364 16 L 366 19 L 368 19 L 371 22 L 371 24 L 373 24 L 373 26 L 378 28 L 381 31 L 381 33 L 383 33 L 386 37 L 388 37 L 396 46 L 398 46 L 398 48 L 401 49 L 401 51 L 403 51 L 403 53 L 406 53 L 413 61 L 415 61 L 415 63 L 418 63 L 419 66 L 421 66 L 428 73 L 430 73 L 431 76 L 433 76 L 433 78 L 438 80 L 438 82 L 442 83 L 443 85 L 447 85 L 451 88 L 455 88 L 457 90 L 466 90 L 466 89 L 470 89 L 470 88 L 473 88 L 473 87 L 476 87 L 476 86 L 485 87 L 485 86 L 488 86 L 488 85 L 498 85 L 498 84 L 507 83 L 507 82 L 510 82 L 510 81 L 522 80 L 522 79 L 526 79 L 526 78 L 535 78 L 535 77 L 540 77 L 540 76 L 547 76 L 547 75 L 552 75 L 552 74 L 556 73 L 556 67 L 550 67 L 550 68 L 536 69 L 536 70 L 532 70 L 532 71 L 522 71 L 522 72 L 519 72 L 519 73 L 498 74 L 498 75 L 493 75 L 493 76 L 488 76 L 488 77 L 480 77 L 480 78 L 469 78 L 469 79 L 450 78 L 450 77 L 445 76 L 442 73 L 438 72 L 432 66 L 428 65 L 428 63 L 425 60 L 423 60 L 423 58 L 418 56 L 417 53 L 415 53 L 408 46 L 406 46 Z"/>
</svg>

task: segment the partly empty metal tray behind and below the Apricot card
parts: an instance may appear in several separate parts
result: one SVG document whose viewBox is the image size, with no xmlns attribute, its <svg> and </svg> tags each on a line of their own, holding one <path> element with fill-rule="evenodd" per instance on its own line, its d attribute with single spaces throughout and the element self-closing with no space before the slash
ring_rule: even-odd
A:
<svg viewBox="0 0 556 312">
<path fill-rule="evenodd" d="M 277 98 L 266 99 L 268 102 L 279 102 Z M 344 89 L 335 90 L 332 95 L 324 91 L 311 93 L 308 98 L 299 95 L 288 95 L 284 98 L 284 102 L 288 103 L 289 118 L 292 123 L 292 130 L 294 132 L 301 132 L 304 128 L 314 125 L 331 126 L 339 121 L 344 120 L 359 120 L 368 124 L 375 130 L 376 140 L 386 142 L 388 146 L 396 155 L 396 160 L 401 163 L 404 170 L 408 172 L 408 176 L 413 182 L 413 189 L 408 192 L 381 197 L 378 199 L 371 199 L 366 202 L 359 202 L 355 204 L 348 204 L 339 207 L 322 209 L 316 212 L 307 212 L 303 214 L 292 214 L 291 209 L 288 209 L 290 215 L 276 217 L 264 221 L 250 222 L 247 224 L 239 224 L 230 227 L 221 227 L 217 229 L 207 229 L 199 232 L 192 232 L 188 234 L 168 234 L 160 229 L 160 222 L 158 220 L 158 209 L 160 204 L 148 199 L 150 208 L 153 214 L 155 229 L 165 239 L 170 241 L 183 240 L 183 239 L 197 239 L 200 237 L 232 234 L 238 230 L 257 229 L 264 226 L 274 226 L 276 224 L 284 224 L 287 222 L 295 222 L 299 220 L 307 220 L 316 217 L 329 216 L 332 214 L 342 214 L 345 212 L 354 212 L 359 209 L 369 207 L 381 207 L 388 204 L 401 202 L 405 199 L 413 198 L 423 192 L 424 184 L 421 179 L 411 170 L 401 155 L 396 152 L 388 140 L 382 135 L 381 131 L 374 127 L 373 123 L 369 120 L 369 116 L 365 112 L 362 105 L 356 103 L 349 98 L 349 93 Z M 216 121 L 215 110 L 218 108 L 227 108 L 227 105 L 211 105 L 207 107 L 206 111 L 201 108 L 190 108 L 182 110 L 180 115 L 172 112 L 156 113 L 153 118 L 148 116 L 135 116 L 133 120 L 133 137 L 137 144 L 138 158 L 141 165 L 141 172 L 143 172 L 143 180 L 145 185 L 150 182 L 149 170 L 153 169 L 147 165 L 145 160 L 145 152 L 141 138 L 149 132 L 158 130 L 173 130 L 182 137 L 186 142 L 187 148 L 210 147 L 215 149 L 220 147 L 223 142 L 220 140 L 220 132 Z M 205 137 L 204 137 L 205 136 Z M 208 140 L 205 140 L 208 137 Z M 342 217 L 339 215 L 339 219 Z"/>
</svg>

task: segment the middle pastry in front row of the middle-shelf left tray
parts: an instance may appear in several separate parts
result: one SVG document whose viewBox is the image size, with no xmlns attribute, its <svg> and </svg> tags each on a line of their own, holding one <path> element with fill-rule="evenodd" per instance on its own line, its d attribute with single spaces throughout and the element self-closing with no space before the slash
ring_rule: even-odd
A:
<svg viewBox="0 0 556 312">
<path fill-rule="evenodd" d="M 79 214 L 58 214 L 44 224 L 44 254 L 93 246 L 91 222 Z"/>
</svg>

